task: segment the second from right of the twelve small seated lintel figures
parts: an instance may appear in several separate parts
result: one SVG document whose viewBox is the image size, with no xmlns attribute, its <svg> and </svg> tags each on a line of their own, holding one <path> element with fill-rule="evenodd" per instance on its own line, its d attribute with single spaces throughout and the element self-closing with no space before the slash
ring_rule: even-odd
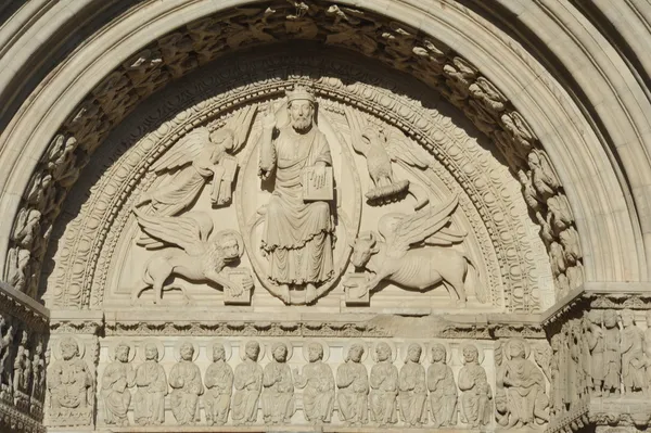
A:
<svg viewBox="0 0 651 433">
<path fill-rule="evenodd" d="M 457 425 L 457 384 L 447 365 L 447 351 L 441 343 L 432 345 L 432 364 L 427 368 L 430 410 L 435 428 Z"/>
</svg>

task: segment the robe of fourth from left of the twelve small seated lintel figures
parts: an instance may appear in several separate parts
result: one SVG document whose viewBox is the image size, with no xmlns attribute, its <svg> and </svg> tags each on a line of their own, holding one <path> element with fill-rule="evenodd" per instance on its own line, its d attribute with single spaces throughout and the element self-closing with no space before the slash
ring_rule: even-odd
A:
<svg viewBox="0 0 651 433">
<path fill-rule="evenodd" d="M 206 394 L 206 419 L 209 424 L 222 425 L 228 420 L 230 398 L 233 393 L 233 369 L 224 360 L 213 362 L 206 369 L 204 380 Z"/>
</svg>

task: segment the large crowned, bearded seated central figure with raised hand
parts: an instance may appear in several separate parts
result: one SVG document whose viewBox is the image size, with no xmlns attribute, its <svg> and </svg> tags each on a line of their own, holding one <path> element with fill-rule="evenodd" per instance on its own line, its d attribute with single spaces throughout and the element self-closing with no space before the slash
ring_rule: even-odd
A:
<svg viewBox="0 0 651 433">
<path fill-rule="evenodd" d="M 334 227 L 327 201 L 304 201 L 303 182 L 326 186 L 326 167 L 332 166 L 326 136 L 314 123 L 316 98 L 296 86 L 288 91 L 290 125 L 277 128 L 271 104 L 263 118 L 259 174 L 276 173 L 273 193 L 266 208 L 263 252 L 269 259 L 270 282 L 291 303 L 290 290 L 305 290 L 314 302 L 317 286 L 333 276 Z"/>
</svg>

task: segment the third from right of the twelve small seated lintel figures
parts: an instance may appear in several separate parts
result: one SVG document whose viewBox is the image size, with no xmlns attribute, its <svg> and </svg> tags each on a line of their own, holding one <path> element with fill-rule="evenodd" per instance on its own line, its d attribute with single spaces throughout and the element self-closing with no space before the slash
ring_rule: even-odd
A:
<svg viewBox="0 0 651 433">
<path fill-rule="evenodd" d="M 425 368 L 420 364 L 422 348 L 412 343 L 407 348 L 407 359 L 400 369 L 400 415 L 408 425 L 420 426 L 427 421 L 425 400 Z"/>
</svg>

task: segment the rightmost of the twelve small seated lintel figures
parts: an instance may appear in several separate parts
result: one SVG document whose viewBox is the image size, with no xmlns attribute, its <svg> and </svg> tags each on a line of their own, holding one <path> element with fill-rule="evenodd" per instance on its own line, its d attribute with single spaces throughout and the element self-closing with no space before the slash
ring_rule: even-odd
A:
<svg viewBox="0 0 651 433">
<path fill-rule="evenodd" d="M 480 352 L 473 344 L 463 346 L 463 367 L 459 371 L 461 420 L 473 429 L 490 422 L 493 392 L 486 370 L 480 365 Z"/>
</svg>

